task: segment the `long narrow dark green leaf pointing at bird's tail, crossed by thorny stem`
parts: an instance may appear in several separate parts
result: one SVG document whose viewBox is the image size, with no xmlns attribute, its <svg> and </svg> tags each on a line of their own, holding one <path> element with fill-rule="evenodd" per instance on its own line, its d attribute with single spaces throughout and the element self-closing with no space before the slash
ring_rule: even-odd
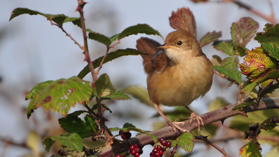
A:
<svg viewBox="0 0 279 157">
<path fill-rule="evenodd" d="M 124 55 L 143 55 L 144 53 L 135 50 L 135 49 L 131 49 L 131 48 L 126 48 L 124 49 L 118 49 L 116 51 L 110 52 L 107 54 L 107 57 L 104 60 L 104 63 L 107 63 L 115 58 L 124 56 Z M 104 56 L 92 61 L 93 62 L 93 66 L 94 68 L 97 68 L 100 66 L 100 63 L 102 61 L 102 59 L 104 58 Z M 83 68 L 83 70 L 81 70 L 81 72 L 78 74 L 79 78 L 83 78 L 85 77 L 85 75 L 87 75 L 90 72 L 89 66 L 87 65 L 86 67 Z"/>
</svg>

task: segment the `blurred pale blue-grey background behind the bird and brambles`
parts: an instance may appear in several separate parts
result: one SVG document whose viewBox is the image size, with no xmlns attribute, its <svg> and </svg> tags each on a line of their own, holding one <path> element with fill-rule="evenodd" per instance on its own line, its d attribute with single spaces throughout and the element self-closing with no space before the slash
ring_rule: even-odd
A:
<svg viewBox="0 0 279 157">
<path fill-rule="evenodd" d="M 194 3 L 190 0 L 142 0 L 142 1 L 90 1 L 84 7 L 86 27 L 106 36 L 120 33 L 129 26 L 138 23 L 147 23 L 158 30 L 165 38 L 167 34 L 174 31 L 169 25 L 169 16 L 172 11 L 183 6 L 189 7 L 196 19 L 197 39 L 199 40 L 208 31 L 222 31 L 220 39 L 231 38 L 231 23 L 241 17 L 250 16 L 256 20 L 262 31 L 265 23 L 272 23 L 255 13 L 239 7 L 232 2 L 210 1 L 207 3 Z M 252 6 L 255 10 L 269 16 L 274 13 L 279 19 L 279 7 L 277 0 L 246 0 L 244 3 Z M 78 73 L 87 65 L 83 62 L 82 50 L 74 42 L 65 36 L 58 27 L 51 26 L 45 17 L 24 14 L 9 22 L 13 9 L 17 7 L 29 8 L 43 13 L 65 14 L 69 17 L 78 17 L 75 12 L 76 0 L 10 0 L 2 1 L 0 6 L 0 157 L 17 156 L 51 156 L 45 153 L 41 144 L 42 137 L 51 135 L 59 136 L 64 133 L 60 128 L 57 119 L 61 116 L 57 113 L 45 113 L 41 108 L 32 113 L 27 119 L 26 108 L 29 101 L 25 101 L 26 93 L 39 82 L 46 80 L 57 80 L 69 78 Z M 65 23 L 64 29 L 70 33 L 75 40 L 83 45 L 81 29 L 72 23 Z M 121 44 L 115 49 L 135 48 L 136 40 L 146 34 L 132 35 L 121 39 Z M 160 43 L 164 39 L 159 36 L 148 36 Z M 106 47 L 93 40 L 88 40 L 91 59 L 94 60 L 105 54 Z M 248 49 L 258 47 L 257 41 L 252 41 L 246 46 Z M 226 55 L 216 51 L 209 44 L 203 48 L 208 58 L 217 54 L 221 58 Z M 242 62 L 242 61 L 240 61 Z M 140 56 L 124 56 L 106 63 L 100 73 L 107 73 L 117 90 L 123 90 L 131 85 L 138 85 L 146 89 L 146 75 L 142 67 Z M 90 75 L 85 80 L 92 81 Z M 243 78 L 244 79 L 244 78 Z M 225 97 L 228 104 L 235 103 L 238 97 L 238 87 L 233 85 L 226 88 L 228 81 L 219 76 L 214 76 L 213 86 L 208 94 L 202 99 L 193 102 L 189 107 L 197 114 L 208 112 L 209 104 L 216 101 L 217 97 Z M 223 99 L 217 99 L 223 101 Z M 153 118 L 157 114 L 156 109 L 132 97 L 129 101 L 107 101 L 107 106 L 113 111 L 105 113 L 110 121 L 108 127 L 121 127 L 125 122 L 132 123 L 143 130 L 158 129 L 158 124 L 164 123 L 162 117 Z M 71 111 L 82 109 L 76 105 Z M 172 107 L 164 107 L 172 111 Z M 244 117 L 245 118 L 245 117 Z M 266 117 L 267 118 L 267 117 Z M 216 143 L 233 157 L 239 156 L 239 148 L 248 141 L 241 140 L 241 137 L 231 140 L 218 140 L 221 137 L 236 137 L 243 132 L 229 132 L 226 128 L 229 120 L 221 126 L 215 136 Z M 252 123 L 251 123 L 252 124 Z M 247 128 L 248 131 L 248 128 Z M 136 133 L 133 133 L 135 136 Z M 202 134 L 209 135 L 209 134 Z M 89 144 L 90 141 L 84 141 Z M 59 146 L 59 145 L 58 145 Z M 266 155 L 272 148 L 268 144 L 262 144 L 262 154 Z M 142 156 L 149 156 L 152 146 L 144 147 Z M 189 153 L 178 150 L 177 156 L 188 156 Z M 56 153 L 54 148 L 52 153 Z M 206 147 L 201 141 L 195 143 L 194 156 L 222 156 L 220 152 L 212 147 Z M 215 155 L 213 155 L 215 154 Z"/>
</svg>

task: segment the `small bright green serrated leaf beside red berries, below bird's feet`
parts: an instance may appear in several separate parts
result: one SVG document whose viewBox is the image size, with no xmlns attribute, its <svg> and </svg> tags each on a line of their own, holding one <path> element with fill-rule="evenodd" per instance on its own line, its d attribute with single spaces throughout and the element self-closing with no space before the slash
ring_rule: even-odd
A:
<svg viewBox="0 0 279 157">
<path fill-rule="evenodd" d="M 174 146 L 178 144 L 182 149 L 191 153 L 194 148 L 193 140 L 194 140 L 193 134 L 187 132 L 187 133 L 181 134 L 172 143 L 174 144 Z"/>
</svg>

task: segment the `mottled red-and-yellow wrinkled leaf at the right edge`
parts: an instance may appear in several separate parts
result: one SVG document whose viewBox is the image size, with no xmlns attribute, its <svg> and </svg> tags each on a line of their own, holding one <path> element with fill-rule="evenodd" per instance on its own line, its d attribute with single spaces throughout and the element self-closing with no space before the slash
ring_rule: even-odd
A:
<svg viewBox="0 0 279 157">
<path fill-rule="evenodd" d="M 278 67 L 278 61 L 265 54 L 261 47 L 246 51 L 244 62 L 239 65 L 241 73 L 248 79 L 256 79 L 265 75 L 268 71 Z"/>
</svg>

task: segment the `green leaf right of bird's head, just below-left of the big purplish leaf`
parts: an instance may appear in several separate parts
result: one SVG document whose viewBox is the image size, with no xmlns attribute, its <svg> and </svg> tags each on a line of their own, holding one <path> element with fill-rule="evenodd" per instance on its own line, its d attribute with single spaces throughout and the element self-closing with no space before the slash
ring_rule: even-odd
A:
<svg viewBox="0 0 279 157">
<path fill-rule="evenodd" d="M 234 47 L 232 40 L 218 40 L 215 41 L 212 45 L 216 50 L 221 51 L 231 57 L 234 56 Z"/>
</svg>

